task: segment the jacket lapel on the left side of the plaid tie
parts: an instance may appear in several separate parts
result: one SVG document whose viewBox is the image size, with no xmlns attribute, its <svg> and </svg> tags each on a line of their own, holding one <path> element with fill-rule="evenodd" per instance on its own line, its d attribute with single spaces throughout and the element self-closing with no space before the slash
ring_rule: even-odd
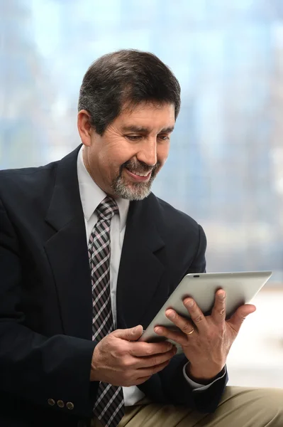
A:
<svg viewBox="0 0 283 427">
<path fill-rule="evenodd" d="M 76 149 L 57 164 L 45 218 L 56 233 L 45 243 L 45 252 L 57 286 L 65 334 L 91 339 L 91 278 L 77 180 L 78 152 Z"/>
</svg>

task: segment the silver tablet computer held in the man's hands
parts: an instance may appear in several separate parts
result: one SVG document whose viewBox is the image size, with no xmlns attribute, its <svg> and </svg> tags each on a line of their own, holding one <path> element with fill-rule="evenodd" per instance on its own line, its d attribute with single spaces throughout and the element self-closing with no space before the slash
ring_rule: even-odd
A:
<svg viewBox="0 0 283 427">
<path fill-rule="evenodd" d="M 226 292 L 226 319 L 247 302 L 250 302 L 257 292 L 272 275 L 271 271 L 248 271 L 243 273 L 194 273 L 184 276 L 177 288 L 172 292 L 165 305 L 154 317 L 143 332 L 140 341 L 159 342 L 166 338 L 155 334 L 157 325 L 176 330 L 177 327 L 165 316 L 167 308 L 173 308 L 179 315 L 189 319 L 189 312 L 183 304 L 185 297 L 192 297 L 204 315 L 209 315 L 214 305 L 215 292 L 223 289 Z M 174 343 L 176 344 L 176 343 Z M 182 351 L 178 346 L 178 352 Z"/>
</svg>

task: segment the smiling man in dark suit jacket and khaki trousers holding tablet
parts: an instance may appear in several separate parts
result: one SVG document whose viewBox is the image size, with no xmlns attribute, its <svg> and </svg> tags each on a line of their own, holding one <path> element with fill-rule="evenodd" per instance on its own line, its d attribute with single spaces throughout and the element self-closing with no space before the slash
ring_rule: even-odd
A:
<svg viewBox="0 0 283 427">
<path fill-rule="evenodd" d="M 205 270 L 204 231 L 150 193 L 180 106 L 155 56 L 119 51 L 82 82 L 82 146 L 0 175 L 0 426 L 283 426 L 282 391 L 227 388 L 243 319 L 184 305 L 182 345 L 138 342 L 187 273 Z M 214 412 L 214 413 L 213 413 Z"/>
</svg>

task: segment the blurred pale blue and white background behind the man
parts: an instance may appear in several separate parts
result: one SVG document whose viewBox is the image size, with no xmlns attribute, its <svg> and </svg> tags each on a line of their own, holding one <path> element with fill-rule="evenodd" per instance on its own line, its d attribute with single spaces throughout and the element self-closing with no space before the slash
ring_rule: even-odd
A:
<svg viewBox="0 0 283 427">
<path fill-rule="evenodd" d="M 283 386 L 283 1 L 0 0 L 0 169 L 79 145 L 79 86 L 120 48 L 172 68 L 182 108 L 153 191 L 199 221 L 208 271 L 272 270 L 231 383 Z"/>
</svg>

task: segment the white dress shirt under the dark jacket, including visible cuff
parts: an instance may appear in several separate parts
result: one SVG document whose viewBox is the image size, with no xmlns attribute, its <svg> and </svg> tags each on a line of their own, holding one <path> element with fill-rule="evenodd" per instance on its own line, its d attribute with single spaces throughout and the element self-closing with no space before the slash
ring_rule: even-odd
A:
<svg viewBox="0 0 283 427">
<path fill-rule="evenodd" d="M 91 234 L 92 228 L 97 222 L 97 215 L 95 210 L 97 206 L 104 200 L 106 193 L 101 190 L 101 188 L 94 182 L 94 180 L 87 172 L 86 167 L 84 166 L 84 161 L 82 158 L 82 150 L 84 146 L 79 150 L 79 155 L 77 157 L 77 176 L 79 181 L 79 195 L 82 201 L 82 209 L 84 211 L 84 223 L 87 232 L 87 244 L 89 242 L 89 236 Z M 111 228 L 110 228 L 110 240 L 111 240 L 111 255 L 110 255 L 110 293 L 111 293 L 111 307 L 113 314 L 113 325 L 114 330 L 117 327 L 117 310 L 116 310 L 116 289 L 117 289 L 117 280 L 118 280 L 118 269 L 120 265 L 120 258 L 123 247 L 123 240 L 126 230 L 126 219 L 128 215 L 128 208 L 130 202 L 126 199 L 115 199 L 119 215 L 114 215 L 111 219 Z M 189 379 L 186 374 L 184 366 L 184 377 L 187 379 L 189 384 L 196 389 L 196 391 L 201 391 L 207 389 L 213 382 L 218 381 L 216 379 L 209 385 L 197 384 L 196 382 Z M 224 375 L 224 374 L 223 374 Z M 222 377 L 221 377 L 222 378 Z M 140 399 L 145 397 L 140 389 L 137 386 L 123 387 L 123 396 L 125 401 L 125 406 L 132 406 Z"/>
</svg>

